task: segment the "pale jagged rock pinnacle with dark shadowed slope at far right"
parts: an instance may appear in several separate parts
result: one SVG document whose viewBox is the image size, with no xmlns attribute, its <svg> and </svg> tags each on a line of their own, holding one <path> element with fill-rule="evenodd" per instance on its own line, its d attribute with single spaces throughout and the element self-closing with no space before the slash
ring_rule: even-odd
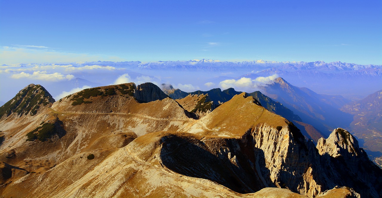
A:
<svg viewBox="0 0 382 198">
<path fill-rule="evenodd" d="M 354 188 L 362 197 L 382 196 L 382 169 L 369 160 L 348 131 L 335 129 L 327 139 L 318 141 L 317 149 L 334 183 Z"/>
</svg>

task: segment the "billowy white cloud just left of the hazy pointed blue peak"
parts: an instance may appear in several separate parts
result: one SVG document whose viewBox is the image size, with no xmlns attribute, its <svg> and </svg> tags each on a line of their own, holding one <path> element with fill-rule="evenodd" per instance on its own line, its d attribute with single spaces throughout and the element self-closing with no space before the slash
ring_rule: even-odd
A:
<svg viewBox="0 0 382 198">
<path fill-rule="evenodd" d="M 257 77 L 254 80 L 252 80 L 252 78 L 246 77 L 240 78 L 239 80 L 228 79 L 221 81 L 219 86 L 223 89 L 238 88 L 244 91 L 254 91 L 255 89 L 261 88 L 270 81 L 275 80 L 277 77 L 277 74 L 274 74 L 268 77 Z"/>
</svg>

